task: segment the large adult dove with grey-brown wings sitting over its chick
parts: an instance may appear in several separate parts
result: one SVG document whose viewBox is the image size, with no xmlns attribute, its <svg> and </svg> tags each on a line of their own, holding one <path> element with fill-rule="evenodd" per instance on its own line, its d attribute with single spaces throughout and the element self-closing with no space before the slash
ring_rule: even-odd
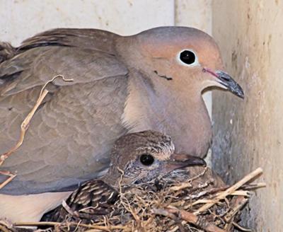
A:
<svg viewBox="0 0 283 232">
<path fill-rule="evenodd" d="M 166 132 L 176 151 L 204 157 L 212 129 L 202 91 L 218 86 L 243 98 L 222 71 L 212 37 L 194 28 L 153 28 L 126 37 L 55 29 L 20 47 L 1 43 L 0 62 L 0 153 L 18 141 L 42 86 L 58 74 L 74 79 L 49 84 L 23 145 L 0 167 L 17 172 L 0 190 L 0 217 L 13 215 L 15 204 L 52 208 L 65 191 L 103 175 L 112 144 L 123 134 Z"/>
</svg>

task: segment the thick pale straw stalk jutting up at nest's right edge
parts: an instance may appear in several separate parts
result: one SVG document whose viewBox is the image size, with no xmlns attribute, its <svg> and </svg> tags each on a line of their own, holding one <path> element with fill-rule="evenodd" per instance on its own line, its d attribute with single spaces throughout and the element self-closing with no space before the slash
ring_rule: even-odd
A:
<svg viewBox="0 0 283 232">
<path fill-rule="evenodd" d="M 212 203 L 207 203 L 204 204 L 202 207 L 200 207 L 200 209 L 198 209 L 197 211 L 194 212 L 195 215 L 200 214 L 202 211 L 205 211 L 207 209 L 209 209 L 210 207 L 212 207 L 214 204 L 216 204 L 217 202 L 219 202 L 219 200 L 224 199 L 226 196 L 231 195 L 231 193 L 235 192 L 239 187 L 241 187 L 243 184 L 246 184 L 246 182 L 248 182 L 249 180 L 252 180 L 253 178 L 255 178 L 257 175 L 260 175 L 262 173 L 262 168 L 257 168 L 256 170 L 254 170 L 252 173 L 246 175 L 242 180 L 236 182 L 235 185 L 232 185 L 231 187 L 229 187 L 227 190 L 225 190 L 224 192 L 220 192 L 219 195 L 217 195 L 214 198 L 214 202 Z"/>
</svg>

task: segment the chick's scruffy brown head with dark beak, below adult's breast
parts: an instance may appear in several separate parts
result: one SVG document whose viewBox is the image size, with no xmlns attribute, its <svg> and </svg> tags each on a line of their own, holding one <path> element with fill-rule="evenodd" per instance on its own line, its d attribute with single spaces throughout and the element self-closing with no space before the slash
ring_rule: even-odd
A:
<svg viewBox="0 0 283 232">
<path fill-rule="evenodd" d="M 111 166 L 105 182 L 117 187 L 123 173 L 122 185 L 149 182 L 171 171 L 188 166 L 205 166 L 202 158 L 174 153 L 171 137 L 144 131 L 117 139 L 111 153 Z"/>
</svg>

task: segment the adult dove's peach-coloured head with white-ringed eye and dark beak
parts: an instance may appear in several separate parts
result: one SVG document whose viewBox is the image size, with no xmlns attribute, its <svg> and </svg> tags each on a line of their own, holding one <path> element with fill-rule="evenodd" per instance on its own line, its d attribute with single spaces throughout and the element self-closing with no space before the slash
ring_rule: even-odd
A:
<svg viewBox="0 0 283 232">
<path fill-rule="evenodd" d="M 129 65 L 144 71 L 155 83 L 176 91 L 200 93 L 204 88 L 218 86 L 240 98 L 244 96 L 241 86 L 223 71 L 219 47 L 201 30 L 161 27 L 127 39 L 122 56 L 127 56 Z"/>
</svg>

